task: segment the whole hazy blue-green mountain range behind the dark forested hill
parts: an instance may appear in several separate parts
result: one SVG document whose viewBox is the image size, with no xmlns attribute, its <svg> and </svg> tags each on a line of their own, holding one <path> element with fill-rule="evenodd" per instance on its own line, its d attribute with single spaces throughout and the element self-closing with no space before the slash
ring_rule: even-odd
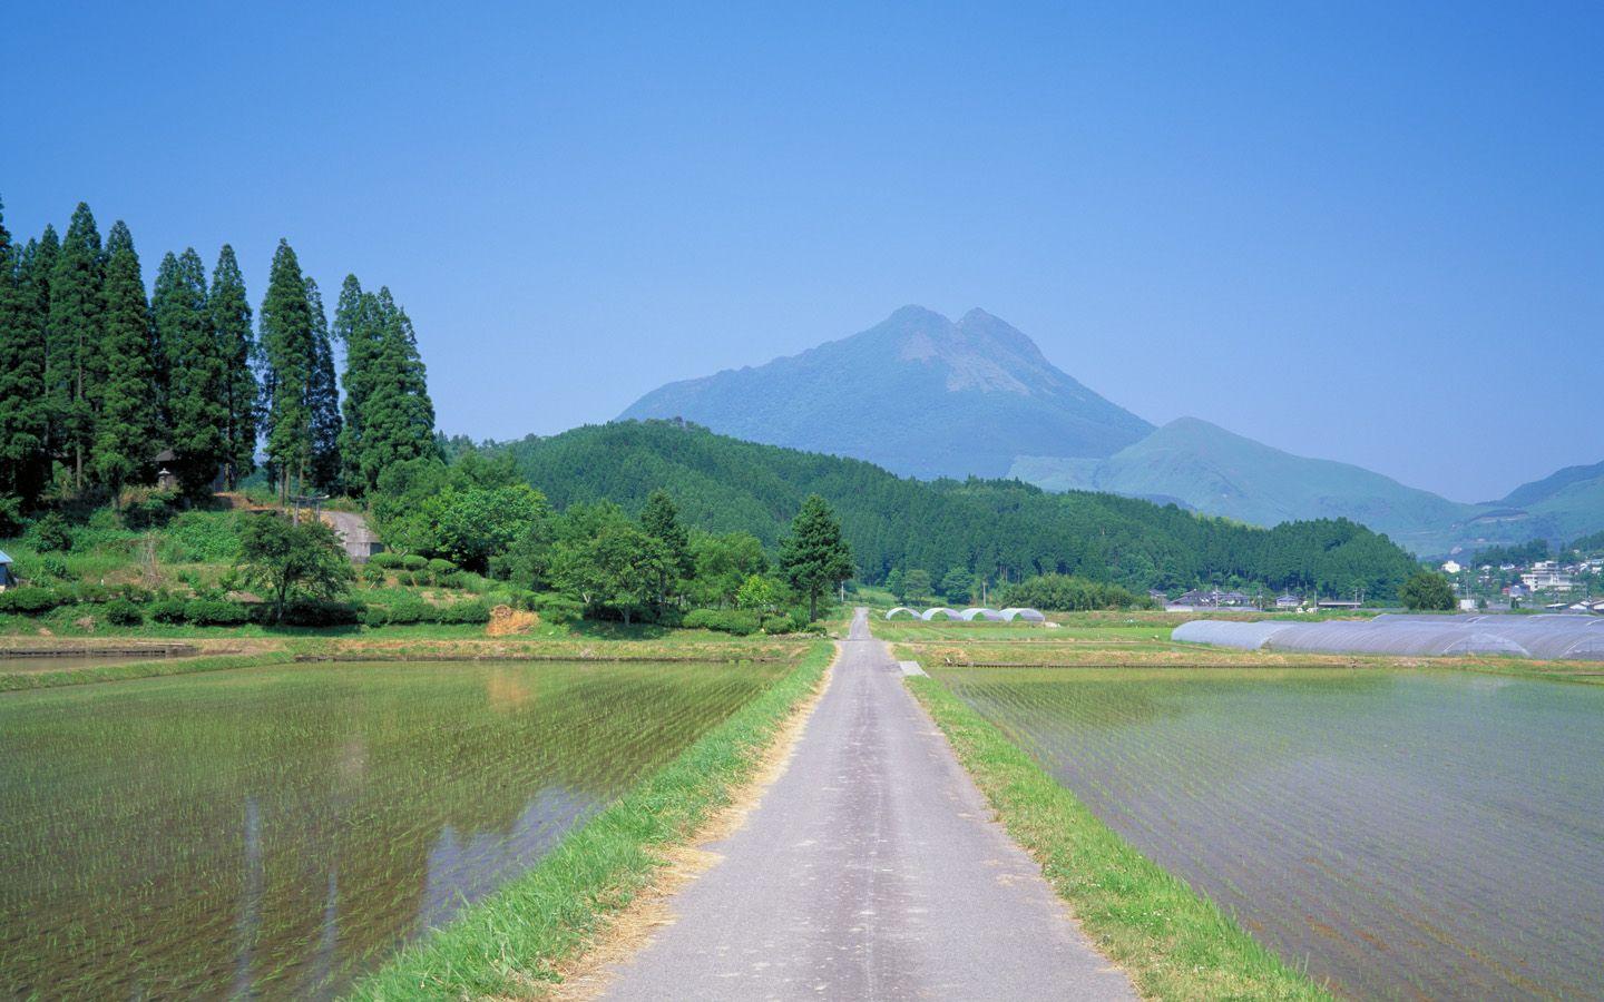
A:
<svg viewBox="0 0 1604 1002">
<path fill-rule="evenodd" d="M 1200 418 L 1153 428 L 982 309 L 953 322 L 903 306 L 876 327 L 797 356 L 669 383 L 621 417 L 680 417 L 926 479 L 1015 476 L 1262 526 L 1349 518 L 1421 555 L 1569 540 L 1604 527 L 1604 463 L 1561 470 L 1497 502 L 1461 503 Z"/>
</svg>

